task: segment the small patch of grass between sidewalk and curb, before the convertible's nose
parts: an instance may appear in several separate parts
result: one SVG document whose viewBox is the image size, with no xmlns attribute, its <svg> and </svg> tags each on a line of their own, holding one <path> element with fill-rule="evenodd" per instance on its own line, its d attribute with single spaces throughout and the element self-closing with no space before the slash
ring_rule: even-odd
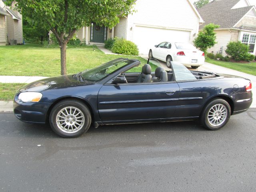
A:
<svg viewBox="0 0 256 192">
<path fill-rule="evenodd" d="M 15 92 L 24 86 L 24 83 L 0 83 L 0 100 L 13 100 Z"/>
</svg>

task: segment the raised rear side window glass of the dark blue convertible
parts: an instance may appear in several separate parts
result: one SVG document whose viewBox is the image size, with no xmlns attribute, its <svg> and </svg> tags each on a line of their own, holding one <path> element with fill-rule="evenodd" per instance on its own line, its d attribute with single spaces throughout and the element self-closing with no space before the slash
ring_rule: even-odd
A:
<svg viewBox="0 0 256 192">
<path fill-rule="evenodd" d="M 196 77 L 184 65 L 174 61 L 171 63 L 176 81 L 196 80 Z"/>
</svg>

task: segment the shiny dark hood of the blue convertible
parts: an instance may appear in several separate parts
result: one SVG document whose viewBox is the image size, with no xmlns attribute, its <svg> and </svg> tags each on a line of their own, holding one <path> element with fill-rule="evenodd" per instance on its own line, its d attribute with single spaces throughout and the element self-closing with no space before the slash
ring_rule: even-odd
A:
<svg viewBox="0 0 256 192">
<path fill-rule="evenodd" d="M 80 82 L 74 78 L 72 75 L 62 75 L 57 77 L 50 77 L 42 80 L 32 82 L 20 89 L 20 92 L 41 92 L 43 90 L 56 89 L 56 88 L 66 88 L 70 86 L 86 85 L 92 84 L 92 82 Z"/>
</svg>

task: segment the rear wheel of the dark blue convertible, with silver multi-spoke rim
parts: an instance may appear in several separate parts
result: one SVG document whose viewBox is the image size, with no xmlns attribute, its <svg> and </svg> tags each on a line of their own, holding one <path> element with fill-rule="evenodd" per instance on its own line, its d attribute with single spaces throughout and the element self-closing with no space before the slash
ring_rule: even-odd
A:
<svg viewBox="0 0 256 192">
<path fill-rule="evenodd" d="M 216 108 L 215 108 L 216 106 Z M 218 106 L 223 107 L 219 108 Z M 216 111 L 215 111 L 216 109 Z M 221 112 L 224 110 L 223 112 Z M 226 113 L 224 113 L 226 111 Z M 214 99 L 204 107 L 200 116 L 200 123 L 209 130 L 218 130 L 228 122 L 231 114 L 231 108 L 224 99 Z M 224 116 L 226 116 L 224 118 Z M 218 121 L 220 121 L 218 123 Z"/>
</svg>

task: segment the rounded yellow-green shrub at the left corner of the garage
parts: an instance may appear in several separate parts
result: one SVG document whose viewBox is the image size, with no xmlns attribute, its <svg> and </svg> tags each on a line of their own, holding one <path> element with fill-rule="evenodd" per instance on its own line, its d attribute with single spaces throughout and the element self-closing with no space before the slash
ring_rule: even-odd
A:
<svg viewBox="0 0 256 192">
<path fill-rule="evenodd" d="M 124 55 L 139 54 L 137 45 L 125 39 L 116 39 L 112 47 L 112 52 Z"/>
</svg>

